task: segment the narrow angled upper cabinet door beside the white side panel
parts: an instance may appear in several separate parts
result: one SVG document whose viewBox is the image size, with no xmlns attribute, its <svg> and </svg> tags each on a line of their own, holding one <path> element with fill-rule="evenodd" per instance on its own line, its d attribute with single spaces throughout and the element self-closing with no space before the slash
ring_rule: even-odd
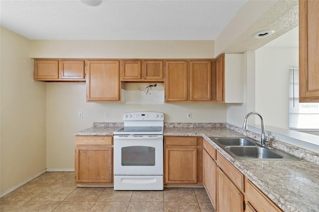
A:
<svg viewBox="0 0 319 212">
<path fill-rule="evenodd" d="M 222 55 L 216 61 L 216 101 L 218 103 L 224 102 L 225 91 L 225 56 Z"/>
</svg>

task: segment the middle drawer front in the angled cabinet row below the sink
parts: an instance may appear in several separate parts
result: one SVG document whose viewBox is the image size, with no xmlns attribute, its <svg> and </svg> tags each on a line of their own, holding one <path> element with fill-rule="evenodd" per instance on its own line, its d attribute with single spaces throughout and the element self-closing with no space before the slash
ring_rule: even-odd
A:
<svg viewBox="0 0 319 212">
<path fill-rule="evenodd" d="M 244 175 L 238 171 L 229 161 L 227 161 L 219 152 L 216 154 L 217 165 L 233 181 L 237 188 L 244 191 Z"/>
</svg>

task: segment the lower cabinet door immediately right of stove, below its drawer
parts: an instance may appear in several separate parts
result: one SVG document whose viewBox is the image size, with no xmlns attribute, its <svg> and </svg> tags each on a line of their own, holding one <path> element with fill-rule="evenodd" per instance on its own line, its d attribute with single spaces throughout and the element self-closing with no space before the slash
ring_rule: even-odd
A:
<svg viewBox="0 0 319 212">
<path fill-rule="evenodd" d="M 165 184 L 196 183 L 197 147 L 165 147 Z"/>
</svg>

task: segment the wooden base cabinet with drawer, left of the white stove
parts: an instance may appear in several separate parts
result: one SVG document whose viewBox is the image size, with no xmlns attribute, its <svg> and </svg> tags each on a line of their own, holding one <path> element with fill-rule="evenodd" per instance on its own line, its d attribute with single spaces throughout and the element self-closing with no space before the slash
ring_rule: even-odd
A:
<svg viewBox="0 0 319 212">
<path fill-rule="evenodd" d="M 75 183 L 113 183 L 113 136 L 75 137 Z"/>
</svg>

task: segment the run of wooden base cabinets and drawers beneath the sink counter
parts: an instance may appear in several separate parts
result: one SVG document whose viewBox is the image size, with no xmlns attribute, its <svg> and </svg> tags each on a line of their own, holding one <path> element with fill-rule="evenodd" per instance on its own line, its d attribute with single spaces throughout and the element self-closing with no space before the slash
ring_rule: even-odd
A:
<svg viewBox="0 0 319 212">
<path fill-rule="evenodd" d="M 203 185 L 216 212 L 283 212 L 205 139 Z"/>
</svg>

